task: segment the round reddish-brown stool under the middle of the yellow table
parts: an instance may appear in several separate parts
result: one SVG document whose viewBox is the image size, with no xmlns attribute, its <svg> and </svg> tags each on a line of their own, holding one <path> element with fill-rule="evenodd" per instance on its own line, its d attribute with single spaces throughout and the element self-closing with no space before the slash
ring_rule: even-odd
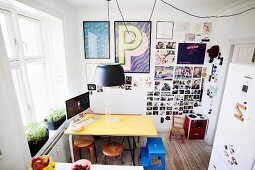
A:
<svg viewBox="0 0 255 170">
<path fill-rule="evenodd" d="M 106 156 L 109 157 L 116 157 L 120 156 L 122 152 L 124 151 L 123 146 L 120 143 L 117 142 L 111 142 L 103 146 L 103 153 L 105 158 L 105 164 L 106 164 Z"/>
</svg>

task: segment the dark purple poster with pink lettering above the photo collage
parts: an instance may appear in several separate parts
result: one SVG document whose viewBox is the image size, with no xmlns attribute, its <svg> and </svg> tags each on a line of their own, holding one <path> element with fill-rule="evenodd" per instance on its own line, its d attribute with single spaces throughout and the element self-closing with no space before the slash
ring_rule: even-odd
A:
<svg viewBox="0 0 255 170">
<path fill-rule="evenodd" d="M 206 44 L 179 43 L 177 64 L 204 64 Z"/>
</svg>

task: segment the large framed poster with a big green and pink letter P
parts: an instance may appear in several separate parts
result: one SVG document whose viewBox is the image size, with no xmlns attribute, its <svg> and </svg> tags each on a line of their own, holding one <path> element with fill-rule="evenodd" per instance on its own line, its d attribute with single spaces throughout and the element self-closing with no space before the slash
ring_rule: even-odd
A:
<svg viewBox="0 0 255 170">
<path fill-rule="evenodd" d="M 149 73 L 151 21 L 125 21 L 125 24 L 114 22 L 115 62 L 126 73 Z"/>
</svg>

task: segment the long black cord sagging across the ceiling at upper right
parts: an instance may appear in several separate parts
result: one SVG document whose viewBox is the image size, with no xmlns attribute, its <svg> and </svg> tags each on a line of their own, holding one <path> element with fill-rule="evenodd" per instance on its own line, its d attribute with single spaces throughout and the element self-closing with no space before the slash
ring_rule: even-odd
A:
<svg viewBox="0 0 255 170">
<path fill-rule="evenodd" d="M 254 6 L 254 7 L 251 7 L 251 8 L 249 8 L 249 9 L 246 9 L 246 10 L 244 10 L 244 11 L 242 11 L 242 12 L 238 12 L 238 13 L 234 13 L 234 14 L 229 14 L 229 15 L 199 16 L 199 15 L 194 15 L 194 14 L 191 14 L 191 13 L 189 13 L 189 12 L 186 12 L 186 11 L 180 9 L 180 8 L 177 8 L 177 7 L 173 6 L 173 5 L 171 5 L 170 3 L 165 2 L 164 0 L 161 0 L 161 2 L 167 4 L 168 6 L 174 8 L 174 9 L 176 9 L 176 10 L 178 10 L 178 11 L 181 11 L 181 12 L 187 14 L 187 15 L 190 15 L 190 16 L 196 17 L 196 18 L 227 18 L 227 17 L 233 17 L 233 16 L 236 16 L 236 15 L 240 15 L 240 14 L 243 14 L 243 13 L 245 13 L 245 12 L 248 12 L 248 11 L 251 11 L 251 10 L 255 9 L 255 6 Z"/>
</svg>

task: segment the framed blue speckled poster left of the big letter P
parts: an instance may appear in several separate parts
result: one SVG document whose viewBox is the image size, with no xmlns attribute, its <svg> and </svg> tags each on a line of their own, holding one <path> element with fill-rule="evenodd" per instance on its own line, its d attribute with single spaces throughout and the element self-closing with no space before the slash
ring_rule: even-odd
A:
<svg viewBox="0 0 255 170">
<path fill-rule="evenodd" d="M 109 21 L 83 21 L 85 59 L 109 59 Z"/>
</svg>

